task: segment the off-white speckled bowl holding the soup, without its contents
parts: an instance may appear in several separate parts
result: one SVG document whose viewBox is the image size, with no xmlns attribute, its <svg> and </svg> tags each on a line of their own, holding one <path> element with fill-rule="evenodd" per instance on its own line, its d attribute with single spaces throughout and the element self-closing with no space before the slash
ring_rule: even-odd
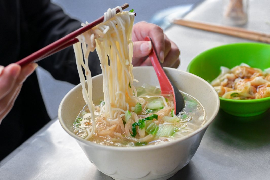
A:
<svg viewBox="0 0 270 180">
<path fill-rule="evenodd" d="M 112 147 L 86 141 L 72 132 L 73 122 L 85 106 L 80 84 L 63 98 L 58 110 L 60 124 L 77 140 L 87 158 L 99 171 L 121 180 L 168 179 L 193 157 L 205 130 L 218 112 L 218 95 L 207 81 L 194 74 L 172 68 L 166 68 L 166 71 L 178 89 L 202 103 L 207 115 L 207 121 L 201 128 L 173 142 L 140 147 Z M 133 74 L 139 80 L 138 86 L 144 82 L 156 86 L 159 84 L 153 67 L 134 67 Z M 92 81 L 93 100 L 99 100 L 103 97 L 102 75 L 93 77 Z"/>
</svg>

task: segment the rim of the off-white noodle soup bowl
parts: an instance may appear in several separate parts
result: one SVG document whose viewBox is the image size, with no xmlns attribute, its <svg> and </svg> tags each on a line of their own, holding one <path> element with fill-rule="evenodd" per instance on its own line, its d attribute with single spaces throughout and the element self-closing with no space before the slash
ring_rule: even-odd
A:
<svg viewBox="0 0 270 180">
<path fill-rule="evenodd" d="M 133 67 L 135 69 L 137 68 L 143 68 L 143 69 L 149 69 L 150 67 L 152 66 L 140 66 L 140 67 Z M 146 145 L 146 146 L 135 146 L 135 147 L 118 147 L 118 146 L 109 146 L 109 145 L 101 145 L 101 144 L 96 144 L 96 143 L 93 143 L 91 141 L 87 141 L 83 138 L 80 138 L 78 137 L 77 135 L 75 135 L 72 131 L 69 130 L 69 128 L 67 127 L 67 125 L 64 123 L 62 117 L 60 116 L 61 114 L 61 107 L 63 105 L 63 101 L 69 96 L 69 94 L 72 93 L 72 91 L 74 89 L 77 89 L 78 86 L 81 86 L 81 84 L 78 84 L 77 86 L 73 87 L 62 99 L 60 105 L 59 105 L 59 108 L 58 108 L 58 120 L 59 120 L 59 123 L 60 125 L 63 127 L 63 129 L 69 134 L 71 135 L 73 138 L 75 138 L 77 141 L 79 142 L 82 142 L 84 144 L 87 144 L 87 145 L 90 145 L 90 146 L 95 146 L 97 148 L 104 148 L 104 149 L 107 149 L 107 150 L 113 150 L 113 151 L 145 151 L 145 150 L 153 150 L 153 149 L 156 149 L 156 148 L 164 148 L 164 147 L 168 147 L 168 146 L 171 146 L 171 145 L 174 145 L 174 144 L 177 144 L 178 142 L 180 141 L 184 141 L 186 140 L 187 138 L 190 138 L 198 133 L 200 133 L 201 131 L 203 131 L 204 129 L 206 129 L 211 123 L 212 121 L 214 120 L 214 118 L 216 117 L 218 111 L 219 111 L 219 107 L 220 107 L 220 101 L 218 100 L 218 94 L 216 93 L 214 87 L 211 86 L 211 84 L 209 84 L 207 81 L 205 81 L 203 78 L 199 77 L 199 76 L 196 76 L 195 74 L 192 74 L 192 73 L 189 73 L 189 72 L 185 72 L 185 71 L 182 71 L 182 70 L 179 70 L 179 69 L 174 69 L 174 68 L 170 68 L 170 67 L 164 67 L 164 69 L 168 69 L 168 70 L 177 70 L 177 71 L 180 71 L 181 73 L 187 73 L 188 75 L 190 76 L 193 76 L 197 79 L 200 79 L 201 81 L 204 81 L 212 90 L 213 92 L 215 92 L 215 98 L 217 99 L 217 106 L 215 106 L 215 108 L 212 110 L 214 113 L 212 114 L 212 116 L 208 117 L 208 120 L 205 122 L 205 124 L 203 124 L 200 128 L 198 128 L 197 130 L 195 130 L 194 132 L 188 134 L 188 135 L 185 135 L 184 137 L 181 137 L 181 138 L 178 138 L 174 141 L 171 141 L 171 142 L 166 142 L 166 143 L 162 143 L 162 144 L 155 144 L 155 145 Z M 98 76 L 102 76 L 102 74 L 98 74 L 96 76 L 93 76 L 93 77 L 98 77 Z M 92 77 L 92 78 L 93 78 Z"/>
</svg>

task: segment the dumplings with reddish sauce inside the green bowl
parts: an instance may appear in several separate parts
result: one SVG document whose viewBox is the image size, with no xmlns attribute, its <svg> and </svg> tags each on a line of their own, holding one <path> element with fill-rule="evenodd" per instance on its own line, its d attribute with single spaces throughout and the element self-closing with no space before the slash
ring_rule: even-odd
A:
<svg viewBox="0 0 270 180">
<path fill-rule="evenodd" d="M 220 70 L 211 82 L 219 97 L 235 100 L 270 97 L 270 68 L 262 71 L 241 63 L 232 69 L 221 66 Z"/>
</svg>

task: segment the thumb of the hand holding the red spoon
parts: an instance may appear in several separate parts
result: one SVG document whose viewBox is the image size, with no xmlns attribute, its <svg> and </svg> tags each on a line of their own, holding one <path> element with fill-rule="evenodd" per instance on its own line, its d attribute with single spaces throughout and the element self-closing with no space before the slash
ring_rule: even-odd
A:
<svg viewBox="0 0 270 180">
<path fill-rule="evenodd" d="M 141 58 L 149 55 L 152 45 L 150 41 L 135 41 L 133 43 L 133 58 Z"/>
</svg>

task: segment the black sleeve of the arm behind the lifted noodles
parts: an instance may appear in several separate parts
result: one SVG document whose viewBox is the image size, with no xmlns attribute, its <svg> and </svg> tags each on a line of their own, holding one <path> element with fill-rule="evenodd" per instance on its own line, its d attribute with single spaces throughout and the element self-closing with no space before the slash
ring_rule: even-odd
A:
<svg viewBox="0 0 270 180">
<path fill-rule="evenodd" d="M 36 45 L 32 47 L 34 51 L 81 27 L 79 21 L 70 18 L 59 6 L 49 0 L 24 0 L 22 7 L 25 11 L 23 14 L 25 14 L 28 31 L 33 33 L 30 39 L 33 45 Z M 48 70 L 55 79 L 73 84 L 79 83 L 72 46 L 39 61 L 38 64 Z M 92 76 L 101 73 L 96 52 L 90 53 L 89 68 Z"/>
</svg>

